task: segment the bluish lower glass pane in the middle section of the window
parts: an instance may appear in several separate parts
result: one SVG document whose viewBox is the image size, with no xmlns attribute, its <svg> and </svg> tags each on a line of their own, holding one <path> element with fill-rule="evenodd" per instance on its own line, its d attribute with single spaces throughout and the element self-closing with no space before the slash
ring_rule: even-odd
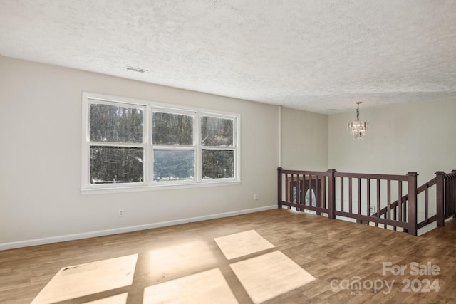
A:
<svg viewBox="0 0 456 304">
<path fill-rule="evenodd" d="M 154 181 L 194 179 L 194 162 L 194 150 L 154 150 Z"/>
</svg>

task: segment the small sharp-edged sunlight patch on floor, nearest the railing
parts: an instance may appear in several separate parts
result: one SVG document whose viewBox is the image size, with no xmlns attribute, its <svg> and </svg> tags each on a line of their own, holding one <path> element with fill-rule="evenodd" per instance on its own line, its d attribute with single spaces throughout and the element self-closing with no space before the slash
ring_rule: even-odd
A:
<svg viewBox="0 0 456 304">
<path fill-rule="evenodd" d="M 254 230 L 221 236 L 214 238 L 214 241 L 228 260 L 274 248 L 274 245 Z"/>
</svg>

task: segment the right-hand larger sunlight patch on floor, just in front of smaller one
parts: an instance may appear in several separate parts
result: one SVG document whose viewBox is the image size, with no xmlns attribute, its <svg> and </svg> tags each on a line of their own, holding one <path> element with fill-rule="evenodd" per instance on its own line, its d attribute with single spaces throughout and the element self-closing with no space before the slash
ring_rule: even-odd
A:
<svg viewBox="0 0 456 304">
<path fill-rule="evenodd" d="M 230 266 L 254 303 L 262 303 L 315 280 L 281 251 Z"/>
</svg>

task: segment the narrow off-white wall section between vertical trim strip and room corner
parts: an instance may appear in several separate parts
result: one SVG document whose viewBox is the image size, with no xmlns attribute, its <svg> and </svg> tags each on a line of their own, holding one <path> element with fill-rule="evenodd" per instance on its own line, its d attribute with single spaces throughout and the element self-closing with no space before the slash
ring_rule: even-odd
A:
<svg viewBox="0 0 456 304">
<path fill-rule="evenodd" d="M 281 167 L 328 169 L 328 115 L 281 109 Z"/>
</svg>

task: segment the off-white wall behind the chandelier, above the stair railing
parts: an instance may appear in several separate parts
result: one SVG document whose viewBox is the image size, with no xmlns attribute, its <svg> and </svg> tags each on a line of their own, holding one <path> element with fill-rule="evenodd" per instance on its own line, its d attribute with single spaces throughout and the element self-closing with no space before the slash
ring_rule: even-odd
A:
<svg viewBox="0 0 456 304">
<path fill-rule="evenodd" d="M 456 98 L 423 100 L 388 108 L 360 109 L 369 122 L 363 140 L 346 125 L 356 112 L 329 115 L 328 164 L 338 172 L 406 174 L 418 172 L 418 185 L 436 171 L 456 169 Z"/>
</svg>

